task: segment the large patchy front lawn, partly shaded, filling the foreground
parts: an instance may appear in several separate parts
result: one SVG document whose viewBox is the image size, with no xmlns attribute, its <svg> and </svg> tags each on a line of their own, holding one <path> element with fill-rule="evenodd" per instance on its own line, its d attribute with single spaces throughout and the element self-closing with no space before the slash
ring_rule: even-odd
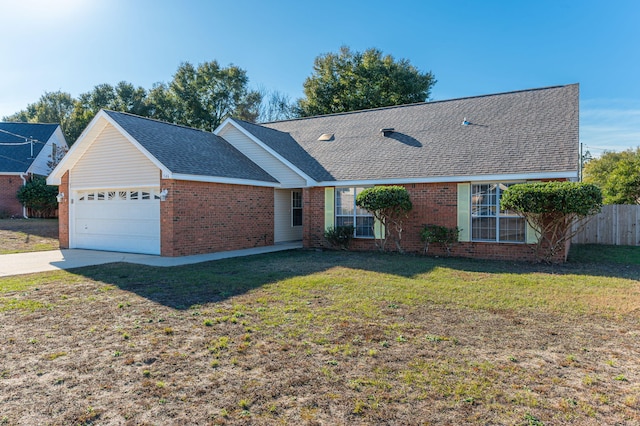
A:
<svg viewBox="0 0 640 426">
<path fill-rule="evenodd" d="M 311 251 L 2 278 L 0 406 L 7 424 L 637 425 L 639 278 Z"/>
</svg>

